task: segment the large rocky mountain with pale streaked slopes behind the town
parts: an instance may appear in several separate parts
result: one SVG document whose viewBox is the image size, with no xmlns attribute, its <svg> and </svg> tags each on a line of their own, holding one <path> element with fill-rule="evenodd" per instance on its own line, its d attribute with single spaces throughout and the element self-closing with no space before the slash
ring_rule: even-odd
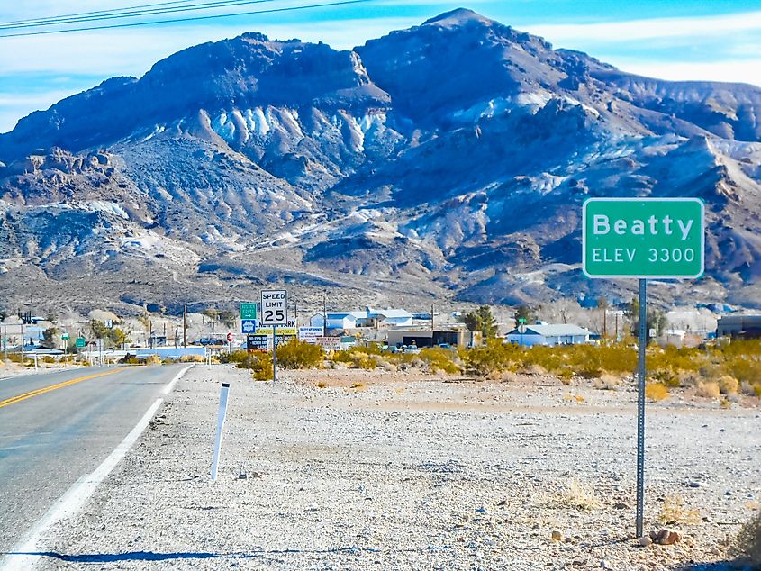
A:
<svg viewBox="0 0 761 571">
<path fill-rule="evenodd" d="M 542 303 L 589 196 L 699 196 L 706 276 L 663 303 L 761 306 L 761 88 L 627 74 L 459 9 L 354 50 L 206 43 L 0 135 L 6 304 Z"/>
</svg>

